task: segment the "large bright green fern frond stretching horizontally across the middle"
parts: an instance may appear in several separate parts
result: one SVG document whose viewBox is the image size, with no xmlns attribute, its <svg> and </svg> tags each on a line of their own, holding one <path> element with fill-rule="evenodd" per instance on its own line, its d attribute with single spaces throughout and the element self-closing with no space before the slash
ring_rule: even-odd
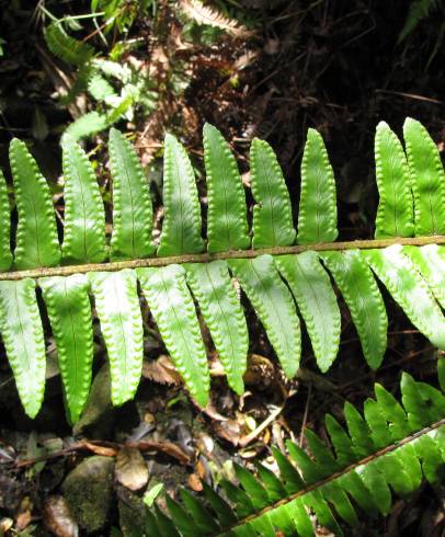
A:
<svg viewBox="0 0 445 537">
<path fill-rule="evenodd" d="M 220 133 L 206 125 L 206 243 L 201 236 L 201 206 L 193 168 L 182 145 L 168 135 L 164 220 L 153 255 L 157 247 L 151 239 L 153 210 L 148 184 L 130 144 L 113 129 L 110 256 L 103 201 L 83 150 L 69 137 L 65 138 L 66 218 L 60 248 L 46 182 L 25 146 L 13 140 L 11 163 L 19 226 L 13 258 L 8 248 L 10 210 L 0 174 L 0 266 L 5 271 L 0 273 L 0 329 L 26 412 L 36 414 L 44 388 L 41 375 L 32 381 L 26 378 L 31 372 L 42 370 L 45 358 L 42 321 L 35 315 L 36 285 L 43 289 L 59 346 L 71 421 L 80 415 L 91 379 L 89 294 L 95 299 L 112 364 L 113 402 L 122 404 L 134 397 L 142 362 L 137 283 L 167 350 L 202 405 L 208 400 L 209 374 L 196 304 L 230 386 L 238 393 L 243 391 L 247 325 L 231 287 L 233 276 L 261 319 L 288 377 L 297 373 L 299 365 L 303 324 L 298 311 L 320 369 L 327 370 L 335 359 L 340 312 L 330 275 L 351 310 L 370 367 L 379 366 L 386 350 L 387 317 L 376 277 L 413 324 L 434 345 L 444 349 L 445 320 L 438 304 L 444 302 L 445 237 L 437 235 L 444 232 L 445 226 L 443 169 L 434 142 L 418 122 L 407 121 L 404 138 L 408 157 L 389 127 L 378 126 L 378 238 L 331 242 L 338 235 L 333 171 L 320 135 L 310 130 L 301 164 L 298 243 L 293 244 L 296 231 L 290 201 L 270 146 L 260 140 L 252 142 L 255 205 L 251 240 L 246 193 L 235 157 Z M 395 237 L 397 233 L 402 237 Z M 58 266 L 60 258 L 62 265 Z M 9 308 L 31 316 L 32 338 L 18 330 Z M 67 319 L 69 315 L 78 319 L 76 329 Z M 84 349 L 82 357 L 76 351 L 77 338 Z M 72 364 L 77 364 L 75 368 Z M 31 404 L 31 399 L 36 402 Z"/>
</svg>

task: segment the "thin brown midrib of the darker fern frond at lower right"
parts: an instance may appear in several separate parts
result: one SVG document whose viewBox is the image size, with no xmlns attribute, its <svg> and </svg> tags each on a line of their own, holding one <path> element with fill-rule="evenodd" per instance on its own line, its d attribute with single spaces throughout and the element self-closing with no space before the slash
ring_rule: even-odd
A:
<svg viewBox="0 0 445 537">
<path fill-rule="evenodd" d="M 298 492 L 295 492 L 294 494 L 288 495 L 284 500 L 279 500 L 277 502 L 272 503 L 271 505 L 267 505 L 267 507 L 264 507 L 261 511 L 258 511 L 256 513 L 252 513 L 249 516 L 246 516 L 244 518 L 238 521 L 237 524 L 224 528 L 222 533 L 216 534 L 214 537 L 218 536 L 224 536 L 227 535 L 228 532 L 236 529 L 237 527 L 242 527 L 246 526 L 249 522 L 254 521 L 255 518 L 259 518 L 260 516 L 264 515 L 265 513 L 273 511 L 274 509 L 277 509 L 282 505 L 285 505 L 287 503 L 290 503 L 292 501 L 296 500 L 297 498 L 304 496 L 305 494 L 308 494 L 309 492 L 312 492 L 313 490 L 319 489 L 320 487 L 323 487 L 324 484 L 330 483 L 331 481 L 334 481 L 335 479 L 341 478 L 342 476 L 345 476 L 350 471 L 354 470 L 355 468 L 360 466 L 364 466 L 369 464 L 370 461 L 384 457 L 385 455 L 395 452 L 401 446 L 404 446 L 407 444 L 410 444 L 411 442 L 414 442 L 415 439 L 420 438 L 421 436 L 431 433 L 432 431 L 435 431 L 436 429 L 440 429 L 441 426 L 445 425 L 445 418 L 440 420 L 438 422 L 433 423 L 432 425 L 429 425 L 427 427 L 423 427 L 422 430 L 418 431 L 417 433 L 411 434 L 410 436 L 404 437 L 400 442 L 396 444 L 391 444 L 390 446 L 384 447 L 381 449 L 378 449 L 376 453 L 373 453 L 372 455 L 368 455 L 367 457 L 353 462 L 352 465 L 347 466 L 343 470 L 339 470 L 335 473 L 332 473 L 331 476 L 321 479 L 312 484 L 309 484 L 305 489 L 301 489 Z"/>
</svg>

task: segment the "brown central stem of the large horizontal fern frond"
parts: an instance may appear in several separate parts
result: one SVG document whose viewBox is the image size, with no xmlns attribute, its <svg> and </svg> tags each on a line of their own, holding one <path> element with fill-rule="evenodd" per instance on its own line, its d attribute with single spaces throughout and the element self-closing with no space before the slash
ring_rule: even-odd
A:
<svg viewBox="0 0 445 537">
<path fill-rule="evenodd" d="M 46 276 L 69 276 L 71 274 L 85 274 L 89 272 L 115 272 L 124 268 L 141 268 L 148 266 L 167 266 L 172 263 L 208 263 L 215 260 L 227 259 L 252 259 L 262 254 L 286 255 L 297 254 L 307 250 L 317 252 L 344 251 L 344 250 L 369 250 L 383 249 L 392 244 L 423 247 L 425 244 L 445 244 L 445 236 L 408 237 L 380 240 L 356 240 L 347 242 L 320 242 L 319 244 L 296 244 L 292 247 L 273 247 L 256 250 L 230 250 L 218 253 L 197 253 L 184 255 L 171 255 L 168 258 L 147 258 L 126 261 L 114 261 L 109 263 L 85 263 L 81 265 L 38 267 L 26 271 L 1 272 L 0 282 L 16 281 L 25 277 L 39 278 Z"/>
</svg>

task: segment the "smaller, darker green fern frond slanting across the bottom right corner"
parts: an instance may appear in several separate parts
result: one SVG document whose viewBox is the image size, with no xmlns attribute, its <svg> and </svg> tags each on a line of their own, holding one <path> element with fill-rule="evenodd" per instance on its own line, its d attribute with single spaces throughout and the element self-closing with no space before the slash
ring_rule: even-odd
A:
<svg viewBox="0 0 445 537">
<path fill-rule="evenodd" d="M 326 426 L 333 447 L 306 430 L 308 452 L 293 442 L 287 454 L 276 448 L 276 476 L 264 466 L 256 475 L 235 465 L 237 483 L 221 491 L 205 484 L 204 499 L 181 492 L 182 502 L 167 500 L 168 513 L 150 510 L 146 537 L 161 527 L 175 535 L 275 536 L 316 535 L 313 516 L 334 535 L 340 523 L 358 525 L 357 511 L 375 516 L 390 512 L 393 495 L 402 498 L 445 475 L 445 396 L 403 374 L 401 403 L 383 386 L 364 405 L 364 418 L 345 404 L 346 429 L 330 414 Z M 210 522 L 212 521 L 212 522 Z"/>
</svg>

